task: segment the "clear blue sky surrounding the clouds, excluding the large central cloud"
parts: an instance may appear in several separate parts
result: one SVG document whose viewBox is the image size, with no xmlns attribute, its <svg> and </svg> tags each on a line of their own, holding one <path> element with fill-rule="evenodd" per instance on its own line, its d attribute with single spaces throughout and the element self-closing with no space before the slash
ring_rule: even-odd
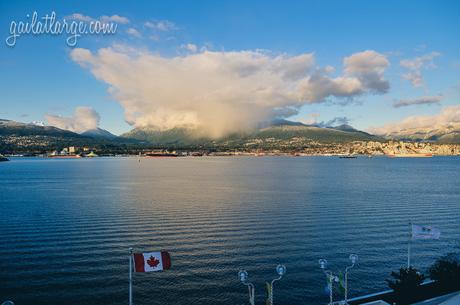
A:
<svg viewBox="0 0 460 305">
<path fill-rule="evenodd" d="M 11 22 L 27 21 L 26 14 L 34 11 L 39 16 L 54 11 L 58 19 L 75 13 L 94 19 L 118 15 L 129 22 L 118 24 L 114 35 L 80 37 L 75 48 L 66 45 L 65 35 L 24 35 L 14 47 L 7 46 Z M 165 27 L 160 29 L 161 22 Z M 130 28 L 140 37 L 127 33 Z M 71 117 L 77 107 L 87 106 L 100 115 L 100 127 L 120 134 L 147 117 L 155 122 L 161 113 L 173 116 L 169 110 L 149 113 L 143 120 L 128 118 L 128 124 L 126 109 L 132 105 L 120 101 L 128 99 L 126 87 L 118 88 L 118 95 L 108 92 L 116 87 L 110 77 L 98 78 L 72 56 L 76 48 L 96 54 L 114 45 L 165 60 L 204 50 L 263 50 L 261 54 L 269 53 L 272 59 L 313 53 L 317 69 L 334 68 L 333 79 L 343 75 L 344 58 L 359 52 L 372 50 L 388 61 L 383 74 L 389 83 L 386 92 L 375 94 L 367 88 L 346 98 L 331 94 L 321 101 L 297 103 L 298 113 L 291 119 L 305 122 L 345 117 L 367 130 L 408 116 L 434 116 L 460 104 L 459 1 L 11 1 L 0 3 L 0 29 L 0 118 L 23 122 L 46 121 L 46 115 Z M 187 50 L 187 44 L 197 50 Z M 404 60 L 409 66 L 421 64 L 411 70 L 401 65 Z M 196 78 L 202 77 L 202 70 L 197 71 Z M 421 77 L 421 83 L 414 86 L 403 77 L 408 73 Z M 167 107 L 168 95 L 161 96 L 149 107 Z M 397 100 L 410 105 L 396 108 Z M 143 111 L 137 104 L 132 107 Z"/>
</svg>

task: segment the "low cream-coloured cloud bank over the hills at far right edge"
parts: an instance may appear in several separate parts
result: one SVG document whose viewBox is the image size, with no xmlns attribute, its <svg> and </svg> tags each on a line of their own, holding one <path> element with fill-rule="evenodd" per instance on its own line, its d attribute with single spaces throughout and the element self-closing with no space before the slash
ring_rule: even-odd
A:
<svg viewBox="0 0 460 305">
<path fill-rule="evenodd" d="M 439 131 L 460 129 L 460 105 L 446 106 L 435 115 L 415 115 L 400 122 L 370 128 L 370 132 L 385 136 L 433 134 Z"/>
</svg>

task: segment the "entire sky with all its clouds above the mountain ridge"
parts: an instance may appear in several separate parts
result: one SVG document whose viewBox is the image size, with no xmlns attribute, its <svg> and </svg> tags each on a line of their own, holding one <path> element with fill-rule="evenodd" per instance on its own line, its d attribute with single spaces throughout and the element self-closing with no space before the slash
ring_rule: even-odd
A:
<svg viewBox="0 0 460 305">
<path fill-rule="evenodd" d="M 9 46 L 34 12 L 116 33 Z M 2 1 L 0 33 L 3 119 L 213 137 L 275 117 L 379 134 L 460 125 L 459 1 Z"/>
</svg>

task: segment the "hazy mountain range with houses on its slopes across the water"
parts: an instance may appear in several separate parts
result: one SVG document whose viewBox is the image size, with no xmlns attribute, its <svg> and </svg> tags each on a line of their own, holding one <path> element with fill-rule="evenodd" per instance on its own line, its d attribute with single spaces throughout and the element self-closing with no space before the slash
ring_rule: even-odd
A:
<svg viewBox="0 0 460 305">
<path fill-rule="evenodd" d="M 200 136 L 201 135 L 201 136 Z M 235 132 L 213 139 L 191 128 L 161 130 L 155 127 L 134 128 L 116 136 L 107 130 L 96 128 L 81 134 L 41 124 L 20 123 L 0 119 L 0 151 L 34 148 L 44 150 L 65 146 L 119 147 L 143 146 L 158 148 L 263 148 L 294 149 L 314 143 L 345 143 L 352 141 L 385 141 L 388 139 L 460 143 L 460 130 L 432 130 L 391 134 L 383 137 L 372 135 L 350 125 L 322 127 L 288 120 L 272 120 L 259 124 L 253 130 Z"/>
</svg>

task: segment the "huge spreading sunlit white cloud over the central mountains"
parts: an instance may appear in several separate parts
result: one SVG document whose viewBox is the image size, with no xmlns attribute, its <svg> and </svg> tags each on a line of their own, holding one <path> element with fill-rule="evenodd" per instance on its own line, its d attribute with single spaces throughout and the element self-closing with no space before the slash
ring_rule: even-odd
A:
<svg viewBox="0 0 460 305">
<path fill-rule="evenodd" d="M 330 68 L 315 68 L 311 53 L 203 51 L 163 57 L 112 47 L 96 53 L 77 48 L 71 57 L 109 85 L 128 123 L 161 129 L 192 126 L 214 137 L 251 128 L 276 108 L 388 89 L 383 79 L 388 61 L 375 51 L 345 58 L 345 74 L 335 78 Z"/>
</svg>

